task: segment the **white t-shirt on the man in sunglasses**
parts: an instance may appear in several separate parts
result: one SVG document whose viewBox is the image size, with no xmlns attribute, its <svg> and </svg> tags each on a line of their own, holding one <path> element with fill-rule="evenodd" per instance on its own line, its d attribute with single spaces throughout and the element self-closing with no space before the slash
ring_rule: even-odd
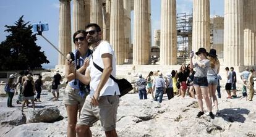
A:
<svg viewBox="0 0 256 137">
<path fill-rule="evenodd" d="M 116 56 L 114 54 L 114 51 L 111 45 L 107 41 L 102 41 L 96 47 L 95 51 L 93 51 L 93 56 L 92 56 L 92 59 L 90 60 L 90 65 L 88 67 L 88 69 L 90 70 L 90 77 L 91 77 L 91 81 L 90 81 L 91 97 L 95 93 L 95 90 L 98 87 L 98 84 L 100 83 L 100 79 L 102 75 L 102 72 L 100 72 L 100 70 L 98 70 L 93 65 L 93 62 L 95 62 L 95 64 L 97 64 L 98 66 L 104 69 L 104 64 L 101 56 L 102 54 L 106 54 L 106 53 L 109 53 L 113 56 L 113 59 L 112 59 L 113 70 L 111 72 L 111 75 L 113 75 L 113 77 L 116 77 Z M 108 95 L 113 96 L 115 93 L 116 95 L 120 94 L 118 85 L 116 82 L 114 82 L 114 80 L 112 80 L 111 78 L 108 78 L 108 81 L 106 81 L 105 85 L 100 91 L 100 96 L 108 96 Z"/>
</svg>

